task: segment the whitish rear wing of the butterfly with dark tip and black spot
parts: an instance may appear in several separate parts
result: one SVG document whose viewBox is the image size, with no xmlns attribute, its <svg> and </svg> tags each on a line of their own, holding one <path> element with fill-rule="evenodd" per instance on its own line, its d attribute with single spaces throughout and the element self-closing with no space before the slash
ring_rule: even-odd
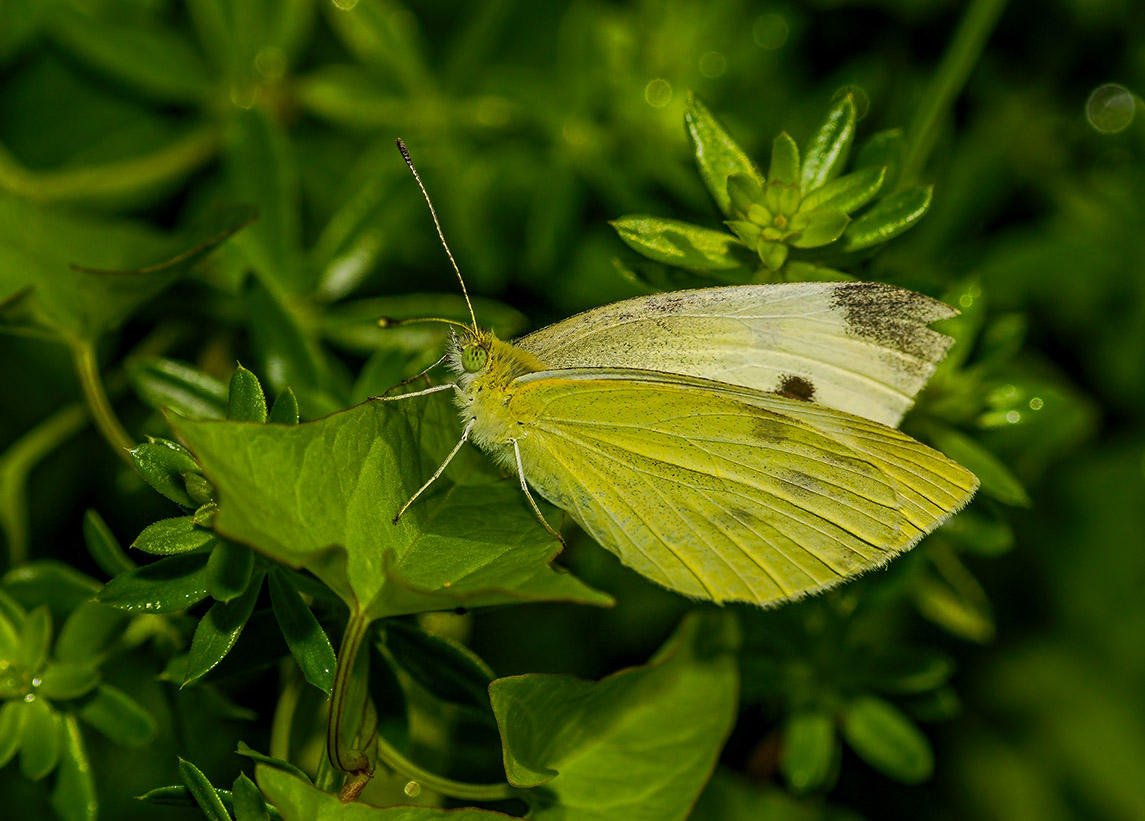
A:
<svg viewBox="0 0 1145 821">
<path fill-rule="evenodd" d="M 638 368 L 897 426 L 953 340 L 949 306 L 879 283 L 731 285 L 638 297 L 513 342 L 546 369 Z"/>
</svg>

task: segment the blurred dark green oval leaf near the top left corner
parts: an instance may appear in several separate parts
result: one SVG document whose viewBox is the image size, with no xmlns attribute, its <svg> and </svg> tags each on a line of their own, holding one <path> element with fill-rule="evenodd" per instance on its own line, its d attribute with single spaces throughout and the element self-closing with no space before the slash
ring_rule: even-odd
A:
<svg viewBox="0 0 1145 821">
<path fill-rule="evenodd" d="M 196 103 L 213 88 L 203 61 L 175 27 L 110 23 L 68 5 L 47 18 L 52 37 L 66 50 L 158 101 Z"/>
</svg>

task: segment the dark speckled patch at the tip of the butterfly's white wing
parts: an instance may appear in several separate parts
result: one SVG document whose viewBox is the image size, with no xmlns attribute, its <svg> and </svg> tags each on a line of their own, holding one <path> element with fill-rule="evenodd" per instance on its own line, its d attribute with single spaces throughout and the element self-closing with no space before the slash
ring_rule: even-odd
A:
<svg viewBox="0 0 1145 821">
<path fill-rule="evenodd" d="M 930 297 L 874 282 L 840 284 L 831 307 L 843 311 L 848 332 L 926 362 L 937 362 L 949 345 L 926 324 L 956 313 Z"/>
</svg>

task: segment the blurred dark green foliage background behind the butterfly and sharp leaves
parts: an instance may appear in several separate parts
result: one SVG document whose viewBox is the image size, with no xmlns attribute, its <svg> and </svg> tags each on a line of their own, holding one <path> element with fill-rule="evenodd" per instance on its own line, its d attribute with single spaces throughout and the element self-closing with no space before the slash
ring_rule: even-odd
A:
<svg viewBox="0 0 1145 821">
<path fill-rule="evenodd" d="M 688 89 L 764 167 L 779 132 L 804 141 L 850 92 L 858 143 L 905 128 L 934 195 L 916 227 L 845 269 L 963 308 L 962 345 L 907 428 L 977 460 L 984 491 L 885 574 L 772 613 L 729 608 L 750 648 L 741 712 L 695 818 L 1145 816 L 1135 6 L 0 0 L 0 586 L 27 610 L 47 603 L 58 631 L 114 555 L 85 548 L 85 511 L 124 544 L 173 515 L 117 452 L 172 435 L 155 408 L 176 388 L 182 406 L 221 415 L 240 361 L 314 419 L 436 356 L 433 331 L 373 325 L 463 309 L 395 136 L 479 318 L 520 331 L 641 292 L 615 265 L 637 258 L 609 220 L 720 228 L 682 127 Z M 1110 82 L 1121 90 L 1098 90 Z M 250 206 L 258 220 L 228 238 Z M 214 380 L 192 390 L 168 360 Z M 126 433 L 106 415 L 88 423 L 104 388 Z M 421 626 L 499 676 L 600 678 L 645 663 L 689 609 L 592 545 L 562 561 L 616 607 Z M 200 610 L 136 618 L 101 661 L 150 716 L 109 708 L 137 720 L 119 728 L 132 743 L 82 731 L 104 818 L 195 816 L 131 796 L 187 779 L 177 756 L 229 786 L 238 739 L 267 749 L 289 657 L 220 668 L 202 687 L 159 678 Z M 337 608 L 324 626 L 337 647 Z M 863 723 L 899 726 L 884 696 L 911 720 L 881 750 Z M 321 729 L 295 732 L 311 768 Z M 62 777 L 9 764 L 0 812 L 45 816 L 45 784 Z M 374 802 L 408 800 L 401 783 L 372 788 Z"/>
</svg>

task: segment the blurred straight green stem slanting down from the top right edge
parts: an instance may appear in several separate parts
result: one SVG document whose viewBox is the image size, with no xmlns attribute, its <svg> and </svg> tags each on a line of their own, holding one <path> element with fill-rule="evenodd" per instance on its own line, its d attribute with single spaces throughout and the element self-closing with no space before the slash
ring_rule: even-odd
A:
<svg viewBox="0 0 1145 821">
<path fill-rule="evenodd" d="M 1006 0 L 973 0 L 958 24 L 954 40 L 926 87 L 922 104 L 907 131 L 909 149 L 899 175 L 900 190 L 915 184 L 918 172 L 938 140 L 939 126 L 966 85 L 1005 3 Z"/>
</svg>

